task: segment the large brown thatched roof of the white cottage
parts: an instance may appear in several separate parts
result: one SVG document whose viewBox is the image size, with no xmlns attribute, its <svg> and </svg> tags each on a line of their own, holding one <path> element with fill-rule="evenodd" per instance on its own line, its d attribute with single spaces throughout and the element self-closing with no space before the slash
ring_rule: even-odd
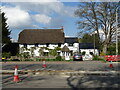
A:
<svg viewBox="0 0 120 90">
<path fill-rule="evenodd" d="M 26 44 L 64 43 L 64 32 L 62 29 L 25 29 L 20 32 L 18 42 Z"/>
</svg>

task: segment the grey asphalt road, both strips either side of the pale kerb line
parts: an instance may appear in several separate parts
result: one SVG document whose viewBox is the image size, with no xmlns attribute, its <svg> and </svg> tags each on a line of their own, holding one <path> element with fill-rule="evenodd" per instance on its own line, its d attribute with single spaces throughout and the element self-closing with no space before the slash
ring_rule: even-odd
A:
<svg viewBox="0 0 120 90">
<path fill-rule="evenodd" d="M 51 70 L 74 70 L 74 71 L 120 71 L 118 63 L 113 63 L 113 69 L 109 67 L 110 63 L 100 61 L 83 62 L 46 62 L 47 68 Z M 3 70 L 14 70 L 15 65 L 19 70 L 40 70 L 42 62 L 6 62 L 2 63 Z M 52 74 L 20 74 L 21 82 L 14 83 L 13 75 L 2 76 L 3 88 L 99 88 L 115 87 L 120 83 L 120 77 L 113 75 L 52 75 Z M 4 89 L 3 89 L 4 90 Z"/>
</svg>

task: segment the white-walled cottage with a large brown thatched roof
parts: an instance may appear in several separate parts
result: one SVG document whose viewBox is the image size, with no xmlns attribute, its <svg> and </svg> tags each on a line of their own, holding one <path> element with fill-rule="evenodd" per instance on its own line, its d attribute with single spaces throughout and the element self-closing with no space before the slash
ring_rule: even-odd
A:
<svg viewBox="0 0 120 90">
<path fill-rule="evenodd" d="M 34 56 L 40 56 L 40 50 L 43 50 L 43 54 L 48 55 L 49 49 L 59 47 L 61 48 L 57 51 L 59 55 L 67 54 L 70 56 L 78 51 L 79 43 L 76 42 L 76 39 L 65 38 L 62 27 L 60 29 L 25 29 L 20 32 L 18 42 L 20 53 L 33 51 Z M 26 49 L 23 50 L 23 48 Z"/>
</svg>

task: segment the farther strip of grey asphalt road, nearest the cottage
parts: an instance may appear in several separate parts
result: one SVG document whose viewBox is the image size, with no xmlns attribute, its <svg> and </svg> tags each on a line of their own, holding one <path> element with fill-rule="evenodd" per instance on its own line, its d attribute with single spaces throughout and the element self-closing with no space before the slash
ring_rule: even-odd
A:
<svg viewBox="0 0 120 90">
<path fill-rule="evenodd" d="M 120 70 L 120 62 L 114 62 L 112 70 Z M 18 65 L 19 70 L 41 70 L 42 62 L 6 62 L 2 63 L 3 70 L 14 70 Z M 101 61 L 71 61 L 71 62 L 46 62 L 48 70 L 76 70 L 76 71 L 109 71 L 110 62 Z"/>
</svg>

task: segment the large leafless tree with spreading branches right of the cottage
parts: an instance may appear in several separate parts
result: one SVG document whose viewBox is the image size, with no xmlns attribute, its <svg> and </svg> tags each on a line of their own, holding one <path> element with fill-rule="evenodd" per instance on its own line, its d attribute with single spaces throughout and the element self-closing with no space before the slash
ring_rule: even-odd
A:
<svg viewBox="0 0 120 90">
<path fill-rule="evenodd" d="M 102 42 L 104 53 L 107 53 L 108 45 L 115 34 L 115 13 L 118 4 L 118 2 L 85 2 L 80 3 L 75 11 L 75 15 L 80 18 L 77 21 L 80 33 L 96 32 L 99 41 Z M 101 38 L 101 32 L 104 38 Z"/>
</svg>

